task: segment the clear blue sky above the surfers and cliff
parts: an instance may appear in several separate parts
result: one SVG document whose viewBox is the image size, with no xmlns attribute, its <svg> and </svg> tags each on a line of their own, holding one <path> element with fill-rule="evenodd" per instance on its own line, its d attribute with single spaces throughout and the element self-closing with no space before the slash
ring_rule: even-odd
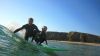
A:
<svg viewBox="0 0 100 56">
<path fill-rule="evenodd" d="M 100 0 L 0 0 L 0 24 L 27 24 L 28 18 L 48 31 L 100 35 Z"/>
</svg>

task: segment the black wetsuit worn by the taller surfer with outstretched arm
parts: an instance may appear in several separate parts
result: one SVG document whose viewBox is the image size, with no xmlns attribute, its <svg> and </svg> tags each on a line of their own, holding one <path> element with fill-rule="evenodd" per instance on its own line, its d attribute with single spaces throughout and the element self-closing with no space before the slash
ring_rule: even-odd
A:
<svg viewBox="0 0 100 56">
<path fill-rule="evenodd" d="M 35 38 L 35 35 L 36 35 L 38 32 L 40 32 L 39 29 L 37 28 L 37 26 L 36 26 L 35 24 L 32 24 L 32 25 L 25 24 L 25 25 L 23 25 L 21 28 L 16 29 L 16 30 L 14 31 L 14 33 L 18 32 L 18 31 L 20 31 L 20 30 L 22 30 L 22 29 L 25 29 L 25 30 L 26 30 L 26 32 L 25 32 L 25 40 L 27 40 L 27 41 L 28 41 L 28 38 L 29 38 L 29 37 L 33 37 L 33 38 L 32 38 L 32 41 L 33 41 L 33 39 Z"/>
</svg>

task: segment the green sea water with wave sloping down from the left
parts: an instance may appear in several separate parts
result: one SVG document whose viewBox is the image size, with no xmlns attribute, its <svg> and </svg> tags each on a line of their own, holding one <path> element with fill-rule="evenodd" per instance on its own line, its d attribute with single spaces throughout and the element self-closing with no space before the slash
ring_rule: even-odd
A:
<svg viewBox="0 0 100 56">
<path fill-rule="evenodd" d="M 100 56 L 100 46 L 69 44 L 52 40 L 48 42 L 50 48 L 65 49 L 66 51 L 40 48 L 0 26 L 0 56 Z"/>
</svg>

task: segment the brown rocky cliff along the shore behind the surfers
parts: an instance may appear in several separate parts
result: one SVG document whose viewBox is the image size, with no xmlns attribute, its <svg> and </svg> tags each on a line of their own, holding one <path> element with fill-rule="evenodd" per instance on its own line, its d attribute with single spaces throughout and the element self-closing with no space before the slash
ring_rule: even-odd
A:
<svg viewBox="0 0 100 56">
<path fill-rule="evenodd" d="M 47 32 L 48 40 L 100 43 L 100 36 L 81 32 Z"/>
</svg>

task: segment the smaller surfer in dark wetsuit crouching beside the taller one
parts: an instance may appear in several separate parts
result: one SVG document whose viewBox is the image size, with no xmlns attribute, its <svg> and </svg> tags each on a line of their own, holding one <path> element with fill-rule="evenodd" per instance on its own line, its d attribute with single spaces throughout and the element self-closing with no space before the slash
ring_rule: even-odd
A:
<svg viewBox="0 0 100 56">
<path fill-rule="evenodd" d="M 47 26 L 43 26 L 42 31 L 40 32 L 40 34 L 37 35 L 38 37 L 35 39 L 36 43 L 41 45 L 41 43 L 45 41 L 46 45 L 48 45 L 46 35 L 47 35 Z"/>
</svg>

